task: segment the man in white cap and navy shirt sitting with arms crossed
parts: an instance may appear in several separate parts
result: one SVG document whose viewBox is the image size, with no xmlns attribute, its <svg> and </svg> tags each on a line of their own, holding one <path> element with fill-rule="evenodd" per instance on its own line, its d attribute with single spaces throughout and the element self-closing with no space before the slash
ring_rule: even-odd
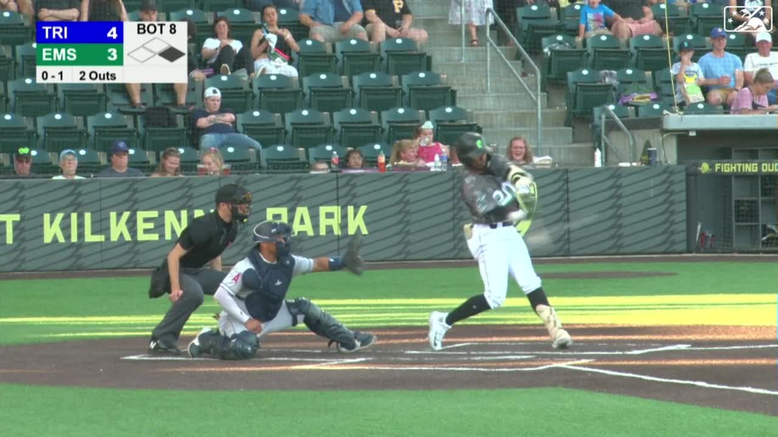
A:
<svg viewBox="0 0 778 437">
<path fill-rule="evenodd" d="M 192 121 L 202 130 L 200 137 L 200 149 L 211 149 L 223 145 L 242 145 L 254 149 L 261 149 L 259 143 L 246 135 L 238 134 L 233 127 L 235 113 L 229 108 L 222 108 L 222 93 L 213 86 L 205 89 L 205 109 L 197 108 L 192 111 Z"/>
</svg>

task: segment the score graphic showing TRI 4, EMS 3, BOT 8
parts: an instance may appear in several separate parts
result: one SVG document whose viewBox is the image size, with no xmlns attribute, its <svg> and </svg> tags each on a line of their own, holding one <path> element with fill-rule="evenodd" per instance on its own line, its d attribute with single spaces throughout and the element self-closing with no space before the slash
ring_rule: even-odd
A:
<svg viewBox="0 0 778 437">
<path fill-rule="evenodd" d="M 38 83 L 187 82 L 185 22 L 38 22 Z"/>
</svg>

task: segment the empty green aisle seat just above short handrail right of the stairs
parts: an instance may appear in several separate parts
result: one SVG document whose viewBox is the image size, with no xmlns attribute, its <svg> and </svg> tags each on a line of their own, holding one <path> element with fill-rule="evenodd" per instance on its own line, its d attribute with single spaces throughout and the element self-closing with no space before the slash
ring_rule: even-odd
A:
<svg viewBox="0 0 778 437">
<path fill-rule="evenodd" d="M 572 126 L 573 117 L 591 117 L 594 107 L 615 99 L 612 85 L 600 82 L 598 72 L 580 69 L 567 73 L 566 126 Z"/>
</svg>

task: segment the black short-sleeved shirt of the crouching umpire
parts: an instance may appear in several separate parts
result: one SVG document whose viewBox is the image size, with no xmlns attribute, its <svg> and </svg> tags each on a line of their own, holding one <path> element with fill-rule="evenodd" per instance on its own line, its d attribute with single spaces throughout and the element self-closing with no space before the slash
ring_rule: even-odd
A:
<svg viewBox="0 0 778 437">
<path fill-rule="evenodd" d="M 178 244 L 187 250 L 181 257 L 180 267 L 202 268 L 221 255 L 237 235 L 237 222 L 227 223 L 217 212 L 195 218 L 178 237 Z"/>
</svg>

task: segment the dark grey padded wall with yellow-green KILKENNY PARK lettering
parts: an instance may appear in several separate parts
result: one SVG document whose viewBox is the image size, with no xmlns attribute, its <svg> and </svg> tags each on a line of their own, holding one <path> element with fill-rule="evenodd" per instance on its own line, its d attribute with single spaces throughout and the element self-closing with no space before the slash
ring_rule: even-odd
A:
<svg viewBox="0 0 778 437">
<path fill-rule="evenodd" d="M 340 253 L 363 234 L 366 260 L 471 258 L 461 170 L 252 174 L 90 180 L 0 180 L 0 271 L 156 267 L 191 218 L 210 211 L 222 184 L 254 193 L 249 224 L 224 256 L 251 247 L 267 218 L 296 229 L 295 251 Z M 684 166 L 533 170 L 534 257 L 687 250 Z"/>
</svg>

